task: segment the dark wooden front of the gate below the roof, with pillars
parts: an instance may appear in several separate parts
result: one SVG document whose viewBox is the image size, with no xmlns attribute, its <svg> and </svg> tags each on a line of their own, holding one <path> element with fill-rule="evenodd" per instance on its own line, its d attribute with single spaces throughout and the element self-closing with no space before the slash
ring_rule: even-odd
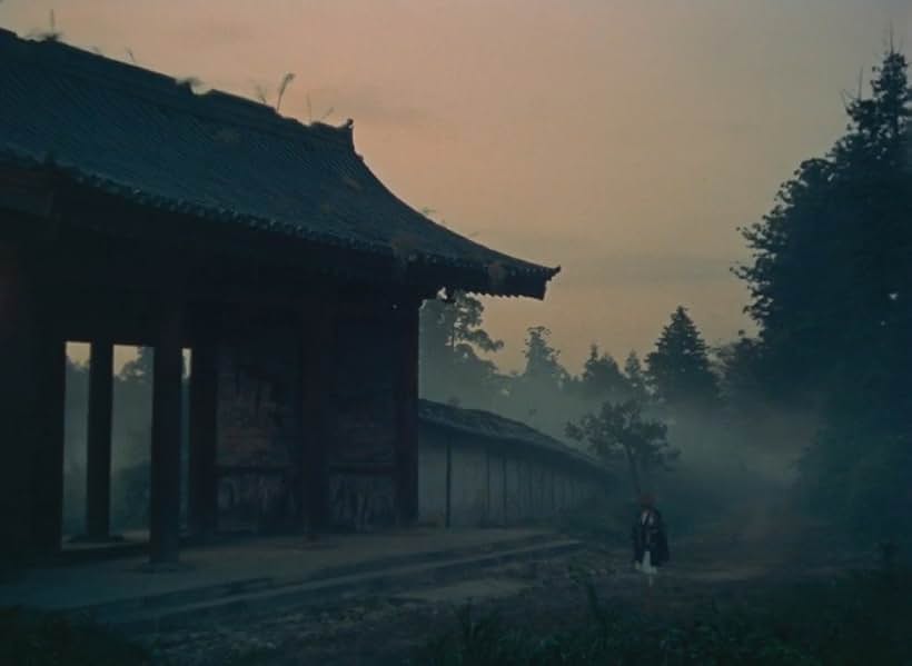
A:
<svg viewBox="0 0 912 666">
<path fill-rule="evenodd" d="M 2 228 L 14 217 L 4 211 Z M 326 278 L 295 294 L 265 267 L 220 258 L 227 272 L 258 272 L 257 287 L 241 297 L 207 275 L 206 257 L 68 233 L 62 225 L 0 240 L 0 441 L 8 456 L 0 529 L 8 554 L 51 554 L 60 546 L 67 341 L 91 345 L 87 537 L 109 536 L 116 344 L 155 349 L 153 560 L 177 557 L 182 419 L 189 419 L 185 491 L 195 533 L 217 527 L 222 476 L 264 468 L 279 471 L 294 494 L 285 527 L 414 520 L 417 312 L 430 295 Z M 181 409 L 185 348 L 192 358 L 189 414 Z M 259 407 L 278 399 L 281 414 L 267 405 L 257 409 L 262 424 L 255 423 L 237 386 L 244 381 Z M 282 423 L 278 435 L 275 421 Z"/>
</svg>

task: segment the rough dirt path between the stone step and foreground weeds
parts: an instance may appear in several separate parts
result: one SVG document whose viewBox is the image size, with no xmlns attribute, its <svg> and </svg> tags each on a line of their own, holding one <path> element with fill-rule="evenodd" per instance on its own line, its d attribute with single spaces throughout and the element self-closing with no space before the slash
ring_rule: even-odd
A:
<svg viewBox="0 0 912 666">
<path fill-rule="evenodd" d="M 647 613 L 690 614 L 702 604 L 737 602 L 772 584 L 832 573 L 839 563 L 800 566 L 796 549 L 769 526 L 740 520 L 711 537 L 675 544 L 675 560 L 647 589 L 626 548 L 597 545 L 544 561 L 485 569 L 447 585 L 418 587 L 346 605 L 231 620 L 159 636 L 157 655 L 177 664 L 406 664 L 416 648 L 457 627 L 456 613 L 496 613 L 505 623 L 554 630 L 581 622 L 586 587 L 607 603 Z M 773 537 L 776 538 L 773 538 Z"/>
</svg>

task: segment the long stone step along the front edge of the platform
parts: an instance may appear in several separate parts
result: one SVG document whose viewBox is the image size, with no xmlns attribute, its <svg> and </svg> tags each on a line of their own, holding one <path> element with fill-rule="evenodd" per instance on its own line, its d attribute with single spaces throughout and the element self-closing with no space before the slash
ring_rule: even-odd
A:
<svg viewBox="0 0 912 666">
<path fill-rule="evenodd" d="M 541 540 L 541 539 L 539 539 Z M 182 593 L 163 595 L 151 606 L 126 606 L 118 603 L 73 612 L 80 617 L 106 624 L 130 634 L 150 634 L 222 618 L 228 615 L 261 615 L 290 612 L 314 605 L 325 605 L 346 599 L 410 589 L 422 585 L 439 584 L 464 575 L 466 571 L 499 566 L 514 561 L 541 559 L 578 550 L 582 541 L 552 538 L 534 545 L 513 548 L 495 548 L 473 555 L 436 557 L 429 560 L 398 564 L 347 574 L 310 577 L 298 583 L 272 583 L 268 579 L 234 581 L 227 586 L 211 586 L 208 596 L 200 600 L 181 597 Z M 406 558 L 404 558 L 406 559 Z M 341 569 L 341 567 L 340 567 Z M 356 569 L 356 567 L 353 567 Z M 198 593 L 200 590 L 197 590 Z M 215 594 L 218 593 L 218 594 Z"/>
</svg>

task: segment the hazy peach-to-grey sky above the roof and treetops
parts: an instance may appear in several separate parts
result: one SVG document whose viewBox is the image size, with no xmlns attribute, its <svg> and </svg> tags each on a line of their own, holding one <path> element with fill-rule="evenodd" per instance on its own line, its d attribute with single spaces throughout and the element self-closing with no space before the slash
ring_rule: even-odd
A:
<svg viewBox="0 0 912 666">
<path fill-rule="evenodd" d="M 485 299 L 495 360 L 552 330 L 647 352 L 687 307 L 710 344 L 741 329 L 737 227 L 845 127 L 843 96 L 912 0 L 0 0 L 0 26 L 355 120 L 400 198 L 475 240 L 561 266 L 544 301 Z M 128 50 L 129 53 L 128 54 Z M 122 351 L 121 351 L 122 352 Z"/>
</svg>

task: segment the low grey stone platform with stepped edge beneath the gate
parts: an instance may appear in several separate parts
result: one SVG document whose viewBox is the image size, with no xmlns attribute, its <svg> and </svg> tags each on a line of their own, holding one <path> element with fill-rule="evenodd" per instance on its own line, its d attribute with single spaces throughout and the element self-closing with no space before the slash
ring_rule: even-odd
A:
<svg viewBox="0 0 912 666">
<path fill-rule="evenodd" d="M 153 568 L 145 556 L 129 556 L 20 571 L 0 583 L 0 607 L 60 612 L 145 633 L 227 613 L 268 613 L 420 587 L 577 547 L 573 539 L 536 529 L 236 538 L 186 548 L 176 567 Z"/>
</svg>

